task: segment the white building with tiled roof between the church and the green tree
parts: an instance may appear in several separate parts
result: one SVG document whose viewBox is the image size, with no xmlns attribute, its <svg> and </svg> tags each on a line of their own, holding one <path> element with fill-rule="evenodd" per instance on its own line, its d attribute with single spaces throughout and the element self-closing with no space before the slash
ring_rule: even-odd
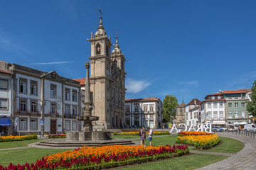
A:
<svg viewBox="0 0 256 170">
<path fill-rule="evenodd" d="M 162 102 L 159 98 L 129 98 L 125 100 L 125 123 L 131 127 L 159 128 L 162 123 Z"/>
</svg>

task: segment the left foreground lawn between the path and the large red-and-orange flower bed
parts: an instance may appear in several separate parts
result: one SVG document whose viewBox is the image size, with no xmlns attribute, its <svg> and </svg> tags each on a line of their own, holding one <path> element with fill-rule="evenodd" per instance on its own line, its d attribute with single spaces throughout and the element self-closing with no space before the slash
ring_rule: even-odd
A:
<svg viewBox="0 0 256 170">
<path fill-rule="evenodd" d="M 0 164 L 9 165 L 13 164 L 25 164 L 35 163 L 37 159 L 46 157 L 47 154 L 55 154 L 63 152 L 68 149 L 39 149 L 39 148 L 26 148 L 26 149 L 12 149 L 0 151 Z"/>
</svg>

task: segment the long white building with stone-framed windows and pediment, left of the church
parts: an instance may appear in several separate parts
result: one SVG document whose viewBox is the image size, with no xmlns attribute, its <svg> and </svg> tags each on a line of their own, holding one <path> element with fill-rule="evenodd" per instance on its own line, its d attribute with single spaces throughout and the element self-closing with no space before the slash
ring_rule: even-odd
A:
<svg viewBox="0 0 256 170">
<path fill-rule="evenodd" d="M 16 134 L 82 130 L 82 123 L 76 120 L 81 113 L 78 81 L 60 77 L 56 72 L 42 72 L 18 64 L 8 63 L 4 70 L 12 74 L 10 84 L 14 84 L 10 117 L 11 125 L 14 125 L 11 129 Z"/>
</svg>

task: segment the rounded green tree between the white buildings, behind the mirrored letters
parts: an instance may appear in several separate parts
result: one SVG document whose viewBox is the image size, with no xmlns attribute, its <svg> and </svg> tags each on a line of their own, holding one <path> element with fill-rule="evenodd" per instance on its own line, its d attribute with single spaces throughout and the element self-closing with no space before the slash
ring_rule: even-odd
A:
<svg viewBox="0 0 256 170">
<path fill-rule="evenodd" d="M 173 95 L 166 95 L 163 101 L 163 118 L 164 123 L 171 122 L 175 118 L 178 99 Z M 172 118 L 171 118 L 172 116 Z"/>
</svg>

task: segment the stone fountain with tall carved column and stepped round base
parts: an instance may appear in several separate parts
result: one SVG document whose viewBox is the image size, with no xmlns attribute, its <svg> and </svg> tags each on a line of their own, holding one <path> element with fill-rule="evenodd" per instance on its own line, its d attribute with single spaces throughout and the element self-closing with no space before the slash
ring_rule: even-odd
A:
<svg viewBox="0 0 256 170">
<path fill-rule="evenodd" d="M 132 140 L 112 139 L 111 132 L 93 131 L 92 122 L 99 120 L 99 117 L 92 116 L 94 107 L 90 92 L 89 62 L 85 63 L 86 81 L 85 81 L 85 107 L 83 115 L 77 116 L 77 120 L 83 121 L 82 132 L 65 132 L 65 139 L 53 139 L 36 143 L 36 145 L 44 145 L 48 147 L 83 147 L 87 145 L 104 146 L 104 145 L 134 145 Z"/>
</svg>

